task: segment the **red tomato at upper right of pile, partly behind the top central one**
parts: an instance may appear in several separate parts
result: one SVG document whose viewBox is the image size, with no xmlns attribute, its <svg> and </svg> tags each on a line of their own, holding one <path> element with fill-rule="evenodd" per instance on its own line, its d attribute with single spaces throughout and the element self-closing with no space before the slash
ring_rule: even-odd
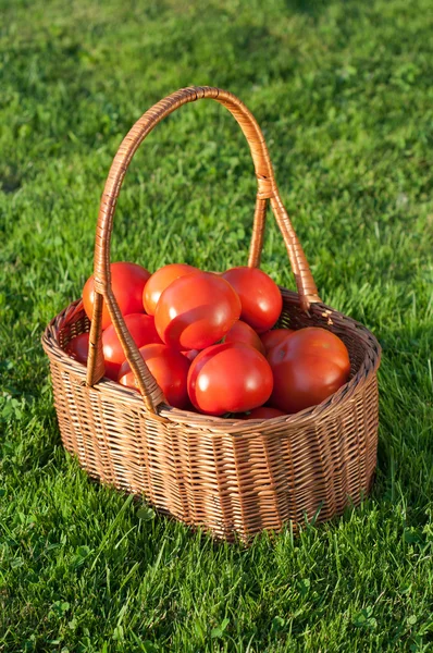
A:
<svg viewBox="0 0 433 653">
<path fill-rule="evenodd" d="M 258 268 L 232 268 L 222 276 L 239 295 L 240 319 L 258 333 L 272 329 L 283 308 L 276 283 Z"/>
</svg>

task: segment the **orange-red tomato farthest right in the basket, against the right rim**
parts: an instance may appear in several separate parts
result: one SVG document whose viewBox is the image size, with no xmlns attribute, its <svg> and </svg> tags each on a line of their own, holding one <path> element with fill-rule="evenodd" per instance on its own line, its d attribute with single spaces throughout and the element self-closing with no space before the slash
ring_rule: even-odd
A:
<svg viewBox="0 0 433 653">
<path fill-rule="evenodd" d="M 270 404 L 286 412 L 321 404 L 347 382 L 350 360 L 346 345 L 325 329 L 295 331 L 268 356 L 274 378 Z"/>
</svg>

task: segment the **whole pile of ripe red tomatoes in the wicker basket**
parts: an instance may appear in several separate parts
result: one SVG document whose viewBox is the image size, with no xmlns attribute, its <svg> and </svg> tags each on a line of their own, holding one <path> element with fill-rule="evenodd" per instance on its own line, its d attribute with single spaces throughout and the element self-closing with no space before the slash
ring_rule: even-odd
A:
<svg viewBox="0 0 433 653">
<path fill-rule="evenodd" d="M 316 406 L 349 378 L 347 348 L 330 331 L 274 329 L 282 296 L 259 269 L 214 274 L 173 263 L 150 274 L 117 262 L 111 285 L 143 359 L 176 408 L 267 419 Z M 90 276 L 83 289 L 89 319 L 94 297 Z M 106 377 L 136 389 L 107 306 L 102 330 Z M 69 355 L 86 364 L 88 338 L 74 337 Z"/>
</svg>

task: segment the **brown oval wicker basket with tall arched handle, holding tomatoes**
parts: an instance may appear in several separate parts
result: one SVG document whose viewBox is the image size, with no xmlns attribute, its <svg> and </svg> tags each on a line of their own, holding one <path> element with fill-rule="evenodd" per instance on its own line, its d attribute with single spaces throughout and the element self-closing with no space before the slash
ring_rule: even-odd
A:
<svg viewBox="0 0 433 653">
<path fill-rule="evenodd" d="M 260 262 L 268 200 L 283 235 L 297 293 L 282 288 L 280 325 L 320 325 L 347 345 L 351 374 L 325 402 L 286 417 L 239 421 L 171 408 L 126 331 L 111 291 L 110 237 L 127 167 L 144 138 L 169 113 L 198 99 L 214 99 L 234 115 L 249 144 L 258 193 L 248 264 Z M 87 472 L 144 495 L 177 519 L 219 538 L 294 529 L 358 504 L 372 483 L 378 445 L 376 370 L 380 346 L 361 324 L 324 306 L 302 248 L 280 199 L 263 135 L 232 94 L 211 87 L 174 93 L 147 111 L 127 134 L 102 195 L 95 247 L 96 301 L 91 324 L 75 301 L 48 325 L 55 408 L 65 448 Z M 141 394 L 103 378 L 101 307 L 112 322 Z M 64 352 L 90 331 L 87 368 Z"/>
</svg>

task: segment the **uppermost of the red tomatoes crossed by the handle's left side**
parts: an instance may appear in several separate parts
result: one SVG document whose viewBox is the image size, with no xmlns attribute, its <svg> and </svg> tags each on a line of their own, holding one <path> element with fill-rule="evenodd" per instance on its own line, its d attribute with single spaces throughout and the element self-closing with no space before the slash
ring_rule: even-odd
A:
<svg viewBox="0 0 433 653">
<path fill-rule="evenodd" d="M 132 312 L 144 312 L 143 291 L 150 276 L 150 272 L 141 268 L 141 266 L 126 262 L 111 263 L 110 270 L 111 287 L 121 313 L 127 316 Z M 91 275 L 83 288 L 83 306 L 89 320 L 91 320 L 94 313 L 94 275 Z M 107 306 L 103 305 L 102 329 L 107 329 L 110 324 L 110 313 Z"/>
</svg>

